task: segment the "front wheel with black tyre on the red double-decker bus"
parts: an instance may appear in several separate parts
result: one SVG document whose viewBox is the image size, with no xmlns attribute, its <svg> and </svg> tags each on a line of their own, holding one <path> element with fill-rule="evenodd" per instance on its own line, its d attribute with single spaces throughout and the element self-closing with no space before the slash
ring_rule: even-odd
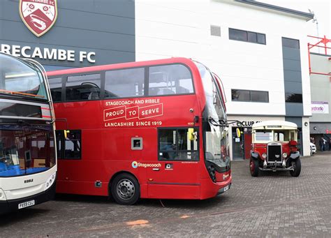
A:
<svg viewBox="0 0 331 238">
<path fill-rule="evenodd" d="M 121 205 L 133 205 L 140 198 L 140 186 L 131 174 L 119 174 L 111 184 L 112 198 Z"/>
</svg>

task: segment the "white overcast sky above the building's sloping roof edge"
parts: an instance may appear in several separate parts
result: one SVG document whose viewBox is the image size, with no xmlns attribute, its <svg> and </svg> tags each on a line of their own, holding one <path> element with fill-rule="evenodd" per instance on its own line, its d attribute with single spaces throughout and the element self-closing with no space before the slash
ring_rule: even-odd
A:
<svg viewBox="0 0 331 238">
<path fill-rule="evenodd" d="M 318 22 L 318 33 L 316 22 L 310 20 L 307 23 L 308 33 L 311 36 L 331 38 L 331 1 L 330 0 L 258 0 L 272 5 L 282 6 L 309 13 L 310 9 L 315 13 Z"/>
</svg>

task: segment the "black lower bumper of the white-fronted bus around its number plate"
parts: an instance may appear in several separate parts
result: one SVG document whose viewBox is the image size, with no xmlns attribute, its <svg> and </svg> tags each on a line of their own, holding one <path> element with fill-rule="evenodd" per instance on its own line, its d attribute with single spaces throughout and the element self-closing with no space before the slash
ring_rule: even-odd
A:
<svg viewBox="0 0 331 238">
<path fill-rule="evenodd" d="M 47 202 L 49 200 L 54 199 L 55 195 L 55 187 L 56 187 L 56 182 L 52 184 L 50 188 L 48 188 L 46 191 L 42 193 L 38 193 L 36 195 L 32 195 L 26 198 L 19 198 L 15 200 L 6 200 L 6 201 L 0 201 L 0 214 L 5 214 L 10 211 L 16 211 L 18 210 L 19 204 L 23 202 L 29 202 L 34 200 L 34 206 L 36 204 L 41 204 L 43 202 Z M 29 206 L 31 207 L 31 206 Z"/>
</svg>

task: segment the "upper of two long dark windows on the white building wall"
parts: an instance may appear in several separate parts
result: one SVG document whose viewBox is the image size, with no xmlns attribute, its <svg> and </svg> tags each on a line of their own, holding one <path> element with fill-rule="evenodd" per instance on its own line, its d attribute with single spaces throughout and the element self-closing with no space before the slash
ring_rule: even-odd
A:
<svg viewBox="0 0 331 238">
<path fill-rule="evenodd" d="M 261 34 L 253 31 L 243 31 L 238 29 L 229 28 L 230 40 L 240 40 L 250 43 L 258 43 L 265 45 L 265 34 Z"/>
</svg>

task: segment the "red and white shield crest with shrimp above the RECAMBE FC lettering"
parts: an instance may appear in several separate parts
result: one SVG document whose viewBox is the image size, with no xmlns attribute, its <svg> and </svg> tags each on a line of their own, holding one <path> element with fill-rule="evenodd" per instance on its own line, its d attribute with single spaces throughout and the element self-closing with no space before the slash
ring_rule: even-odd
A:
<svg viewBox="0 0 331 238">
<path fill-rule="evenodd" d="M 20 16 L 36 36 L 43 36 L 57 20 L 57 0 L 20 0 Z"/>
</svg>

